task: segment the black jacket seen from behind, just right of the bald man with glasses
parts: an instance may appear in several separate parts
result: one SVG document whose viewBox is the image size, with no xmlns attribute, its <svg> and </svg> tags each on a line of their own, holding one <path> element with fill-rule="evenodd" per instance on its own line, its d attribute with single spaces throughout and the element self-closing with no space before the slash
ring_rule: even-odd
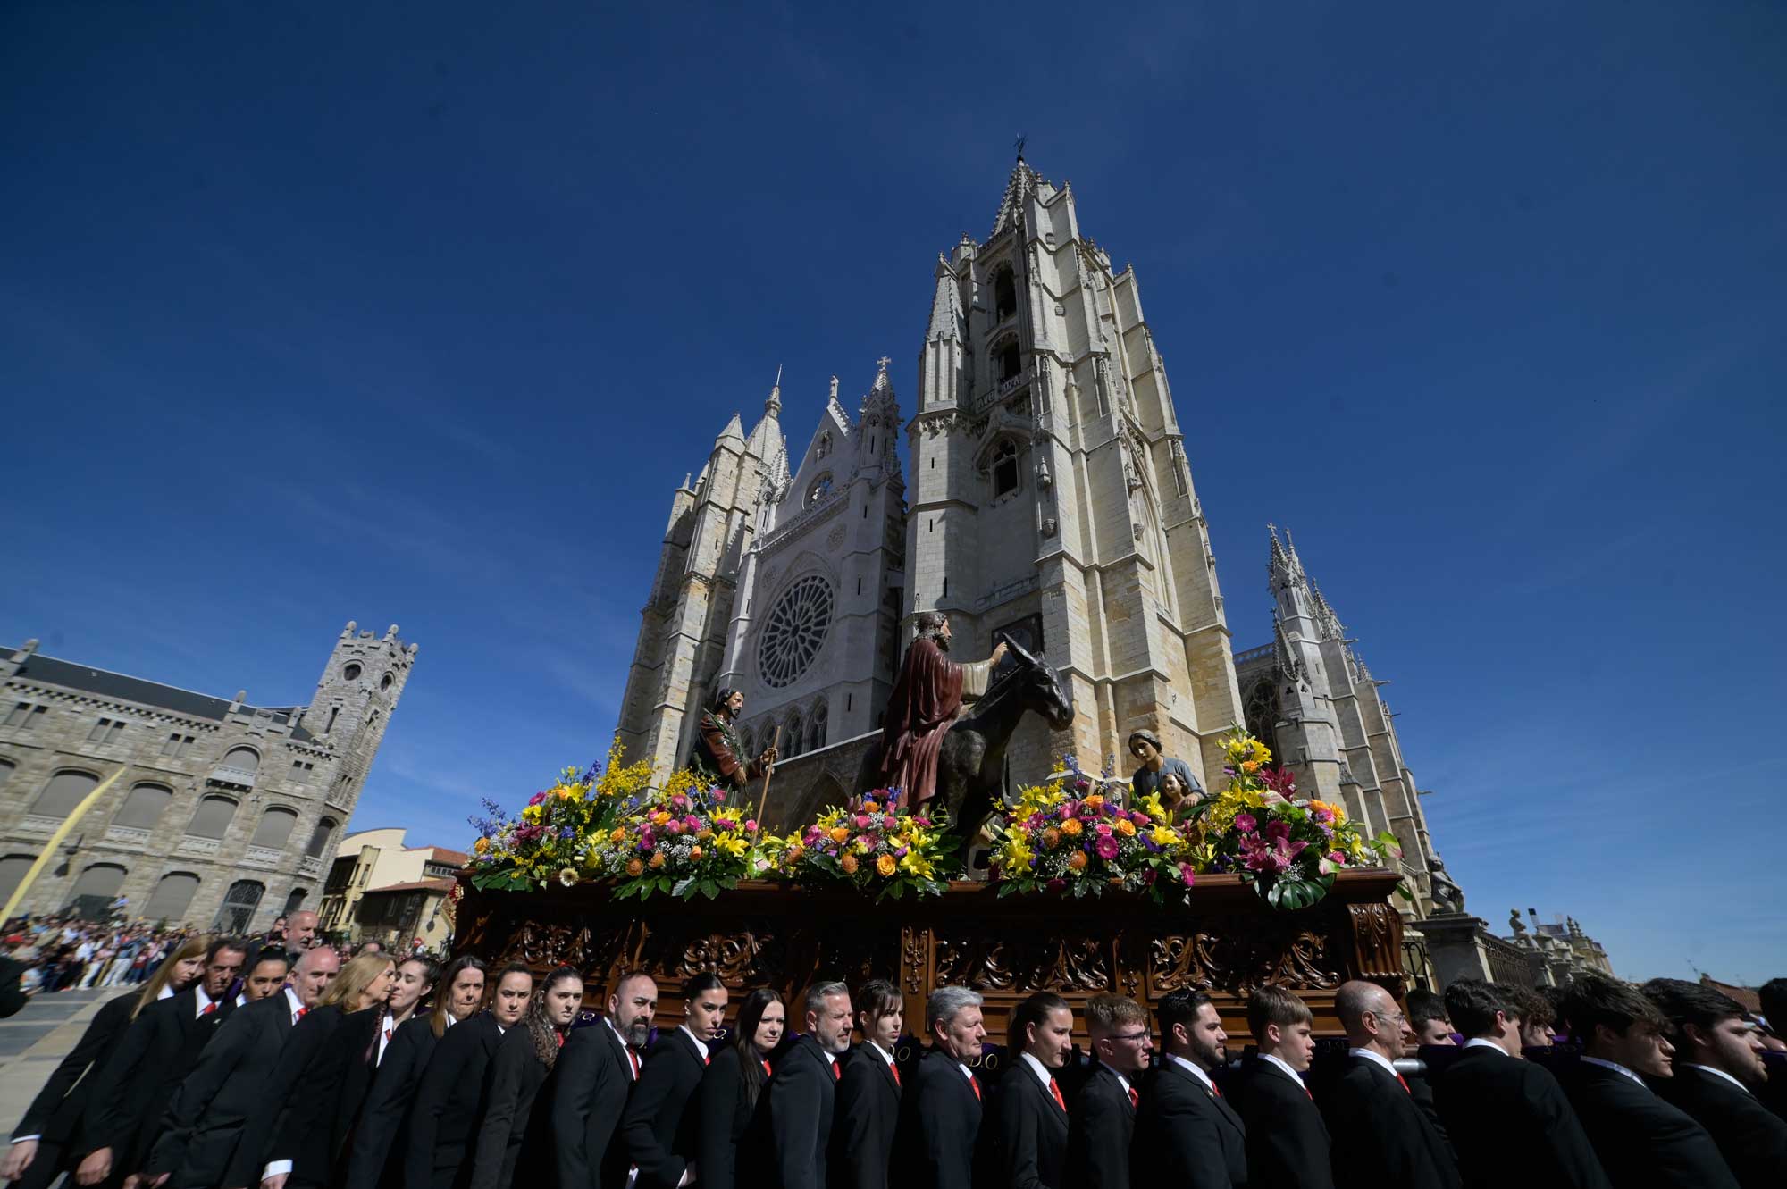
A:
<svg viewBox="0 0 1787 1189">
<path fill-rule="evenodd" d="M 1433 1102 L 1471 1189 L 1610 1189 L 1564 1087 L 1540 1066 L 1472 1044 Z"/>
</svg>

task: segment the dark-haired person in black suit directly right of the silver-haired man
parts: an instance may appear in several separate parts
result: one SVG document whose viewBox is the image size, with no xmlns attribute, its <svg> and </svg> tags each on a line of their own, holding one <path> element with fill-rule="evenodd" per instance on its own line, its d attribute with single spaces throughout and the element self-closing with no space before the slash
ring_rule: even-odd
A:
<svg viewBox="0 0 1787 1189">
<path fill-rule="evenodd" d="M 1067 1100 L 1056 1075 L 1074 1055 L 1074 1012 L 1038 991 L 1011 1009 L 1006 1055 L 1017 1053 L 994 1087 L 981 1127 L 983 1189 L 1065 1189 Z"/>
</svg>

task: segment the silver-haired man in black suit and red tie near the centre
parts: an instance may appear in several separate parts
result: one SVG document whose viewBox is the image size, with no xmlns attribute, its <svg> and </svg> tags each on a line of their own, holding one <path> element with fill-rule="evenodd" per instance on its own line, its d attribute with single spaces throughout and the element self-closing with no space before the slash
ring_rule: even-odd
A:
<svg viewBox="0 0 1787 1189">
<path fill-rule="evenodd" d="M 895 1152 L 906 1160 L 906 1175 L 897 1180 L 931 1189 L 972 1189 L 981 1084 L 969 1062 L 979 1060 L 986 1039 L 979 993 L 938 987 L 924 1005 L 924 1028 L 931 1034 L 931 1052 L 901 1098 Z"/>
</svg>

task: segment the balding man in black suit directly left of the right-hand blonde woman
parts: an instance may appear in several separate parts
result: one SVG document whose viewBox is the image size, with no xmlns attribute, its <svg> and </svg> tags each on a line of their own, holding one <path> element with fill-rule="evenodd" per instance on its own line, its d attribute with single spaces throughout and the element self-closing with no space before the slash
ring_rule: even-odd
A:
<svg viewBox="0 0 1787 1189">
<path fill-rule="evenodd" d="M 307 950 L 291 982 L 229 1014 L 180 1082 L 145 1162 L 152 1189 L 245 1189 L 261 1184 L 261 1153 L 241 1143 L 248 1118 L 266 1110 L 266 1078 L 291 1030 L 341 969 L 331 948 Z"/>
</svg>

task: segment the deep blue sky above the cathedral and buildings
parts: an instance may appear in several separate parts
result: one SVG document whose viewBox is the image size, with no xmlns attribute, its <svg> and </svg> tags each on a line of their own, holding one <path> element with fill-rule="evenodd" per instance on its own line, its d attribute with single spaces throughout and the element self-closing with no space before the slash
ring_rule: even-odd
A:
<svg viewBox="0 0 1787 1189">
<path fill-rule="evenodd" d="M 0 14 L 0 637 L 289 703 L 395 621 L 356 825 L 465 844 L 606 750 L 779 364 L 795 437 L 879 355 L 911 412 L 1024 132 L 1140 271 L 1235 646 L 1288 525 L 1471 909 L 1787 975 L 1778 5 L 279 7 Z"/>
</svg>

